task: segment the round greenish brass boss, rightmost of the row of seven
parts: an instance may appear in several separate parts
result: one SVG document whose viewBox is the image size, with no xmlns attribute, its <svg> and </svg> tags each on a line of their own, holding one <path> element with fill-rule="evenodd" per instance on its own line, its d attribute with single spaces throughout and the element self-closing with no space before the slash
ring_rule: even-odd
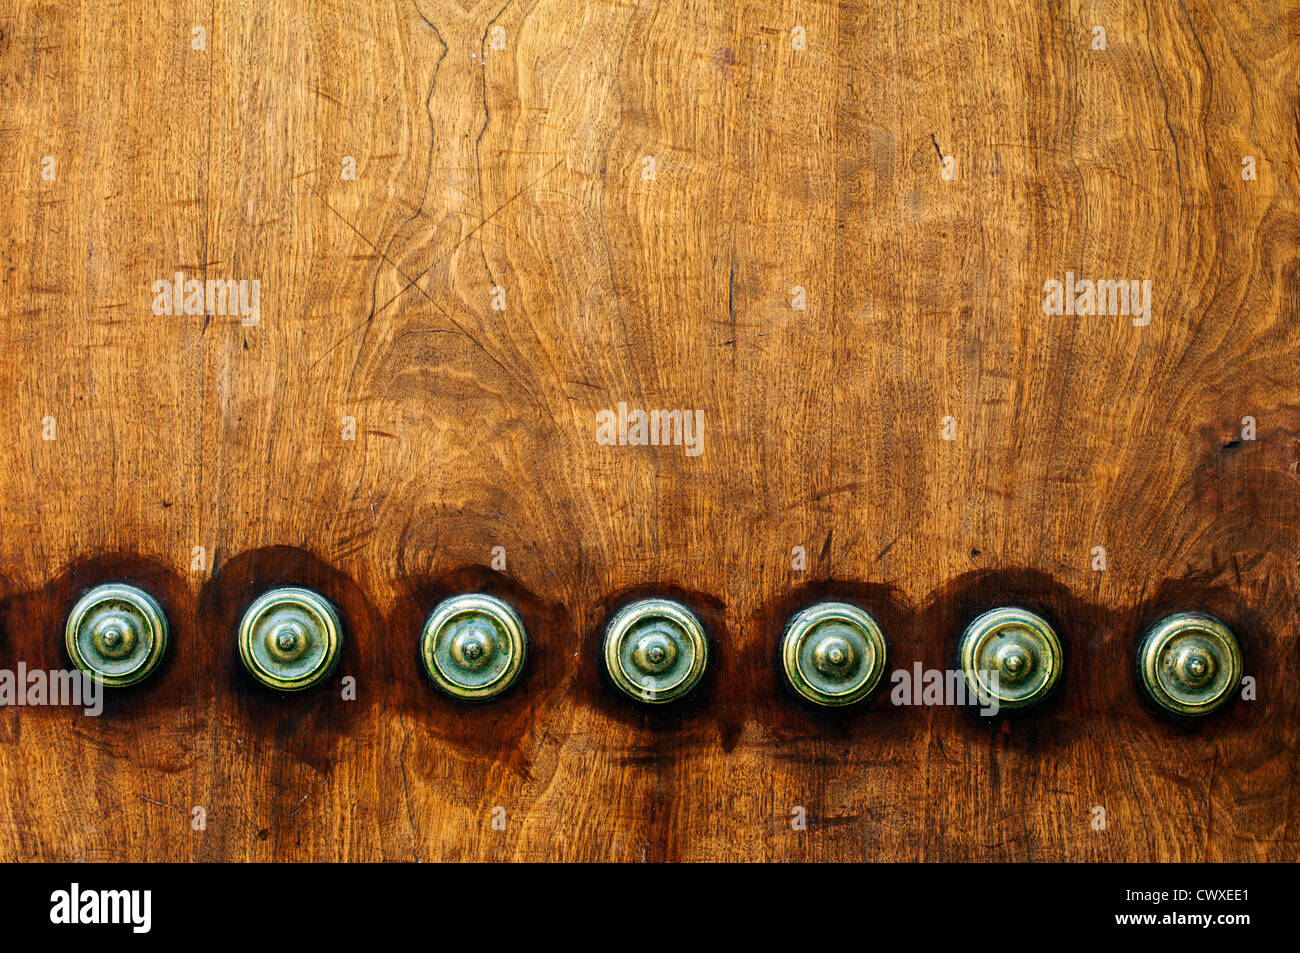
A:
<svg viewBox="0 0 1300 953">
<path fill-rule="evenodd" d="M 1156 623 L 1138 649 L 1143 688 L 1164 709 L 1206 715 L 1242 681 L 1242 649 L 1232 631 L 1204 612 L 1178 612 Z"/>
</svg>

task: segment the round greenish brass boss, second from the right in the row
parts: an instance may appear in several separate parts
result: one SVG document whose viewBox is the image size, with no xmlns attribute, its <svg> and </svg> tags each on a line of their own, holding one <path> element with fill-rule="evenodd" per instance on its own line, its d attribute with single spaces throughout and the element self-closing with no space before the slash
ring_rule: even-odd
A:
<svg viewBox="0 0 1300 953">
<path fill-rule="evenodd" d="M 1008 606 L 994 608 L 962 633 L 958 662 L 975 702 L 1027 709 L 1050 694 L 1065 655 L 1056 632 L 1041 616 Z"/>
</svg>

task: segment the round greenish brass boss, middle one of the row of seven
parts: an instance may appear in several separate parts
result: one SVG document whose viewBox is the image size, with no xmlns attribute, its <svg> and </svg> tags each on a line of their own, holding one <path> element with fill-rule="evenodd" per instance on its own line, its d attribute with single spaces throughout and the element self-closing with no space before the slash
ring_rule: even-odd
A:
<svg viewBox="0 0 1300 953">
<path fill-rule="evenodd" d="M 708 663 L 708 640 L 685 606 L 642 599 L 619 610 L 604 629 L 604 667 L 619 689 L 662 705 L 690 692 Z"/>
</svg>

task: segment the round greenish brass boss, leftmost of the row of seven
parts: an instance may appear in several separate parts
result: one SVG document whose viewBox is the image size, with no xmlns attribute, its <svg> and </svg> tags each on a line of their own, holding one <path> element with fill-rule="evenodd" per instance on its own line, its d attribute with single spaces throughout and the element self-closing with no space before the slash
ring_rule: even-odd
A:
<svg viewBox="0 0 1300 953">
<path fill-rule="evenodd" d="M 134 685 L 166 651 L 166 615 L 143 589 L 125 582 L 95 586 L 68 614 L 64 641 L 73 664 L 96 681 Z"/>
</svg>

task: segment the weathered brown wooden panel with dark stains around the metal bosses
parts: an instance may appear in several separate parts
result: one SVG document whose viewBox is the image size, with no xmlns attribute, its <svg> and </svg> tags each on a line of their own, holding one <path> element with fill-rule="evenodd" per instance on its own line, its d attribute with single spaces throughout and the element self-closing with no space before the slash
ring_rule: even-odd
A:
<svg viewBox="0 0 1300 953">
<path fill-rule="evenodd" d="M 109 579 L 176 638 L 99 719 L 0 711 L 0 855 L 1296 859 L 1297 75 L 1294 0 L 5 0 L 0 666 Z M 176 272 L 260 320 L 155 315 Z M 1066 272 L 1149 325 L 1045 315 Z M 703 452 L 599 445 L 619 402 Z M 282 581 L 355 702 L 242 675 Z M 480 709 L 416 658 L 472 588 L 532 636 Z M 714 641 L 667 711 L 599 668 L 647 592 Z M 1014 720 L 810 712 L 776 646 L 827 593 L 890 668 L 1005 601 L 1069 668 Z M 1258 698 L 1184 727 L 1132 653 L 1192 607 Z"/>
</svg>

